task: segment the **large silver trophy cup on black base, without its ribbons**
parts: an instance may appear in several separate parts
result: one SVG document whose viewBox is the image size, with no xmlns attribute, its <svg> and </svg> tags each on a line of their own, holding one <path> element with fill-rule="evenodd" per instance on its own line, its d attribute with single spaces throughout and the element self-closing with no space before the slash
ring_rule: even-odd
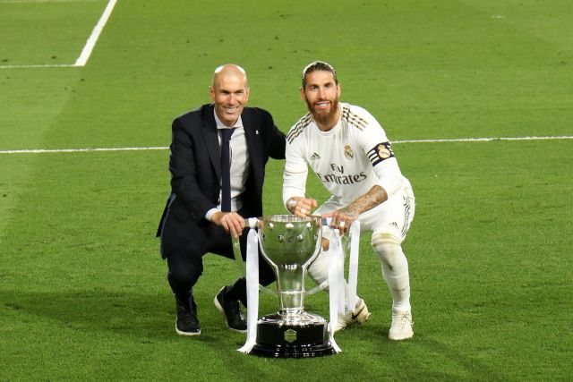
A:
<svg viewBox="0 0 573 382">
<path fill-rule="evenodd" d="M 321 250 L 321 216 L 263 216 L 259 239 L 262 255 L 277 277 L 280 308 L 257 322 L 251 353 L 280 358 L 335 353 L 329 343 L 327 321 L 304 311 L 307 268 Z"/>
</svg>

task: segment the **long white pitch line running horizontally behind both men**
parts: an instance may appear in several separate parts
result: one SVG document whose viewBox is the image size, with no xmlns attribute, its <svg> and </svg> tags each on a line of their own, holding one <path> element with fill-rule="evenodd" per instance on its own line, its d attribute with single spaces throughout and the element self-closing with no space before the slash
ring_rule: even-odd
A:
<svg viewBox="0 0 573 382">
<path fill-rule="evenodd" d="M 573 140 L 573 136 L 562 135 L 556 137 L 498 137 L 498 138 L 455 138 L 444 140 L 394 140 L 392 143 L 442 143 L 442 142 L 492 142 L 496 140 Z M 90 151 L 146 151 L 167 150 L 167 146 L 151 146 L 140 148 L 86 148 L 86 149 L 19 149 L 0 150 L 0 154 L 49 154 L 49 153 L 78 153 Z"/>
</svg>

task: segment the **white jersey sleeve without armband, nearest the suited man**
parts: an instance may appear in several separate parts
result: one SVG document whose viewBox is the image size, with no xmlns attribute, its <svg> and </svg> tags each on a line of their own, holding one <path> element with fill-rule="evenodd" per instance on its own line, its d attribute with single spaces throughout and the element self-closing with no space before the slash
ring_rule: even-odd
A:
<svg viewBox="0 0 573 382">
<path fill-rule="evenodd" d="M 283 204 L 295 196 L 304 197 L 308 164 L 304 158 L 303 148 L 297 140 L 286 141 L 285 172 L 283 174 Z"/>
</svg>

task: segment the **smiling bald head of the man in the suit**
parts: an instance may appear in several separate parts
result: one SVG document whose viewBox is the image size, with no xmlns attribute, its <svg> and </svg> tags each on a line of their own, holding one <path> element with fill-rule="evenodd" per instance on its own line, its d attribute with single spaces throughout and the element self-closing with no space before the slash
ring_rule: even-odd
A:
<svg viewBox="0 0 573 382">
<path fill-rule="evenodd" d="M 232 127 L 249 100 L 247 73 L 239 65 L 221 65 L 215 69 L 209 92 L 218 119 L 228 127 Z"/>
</svg>

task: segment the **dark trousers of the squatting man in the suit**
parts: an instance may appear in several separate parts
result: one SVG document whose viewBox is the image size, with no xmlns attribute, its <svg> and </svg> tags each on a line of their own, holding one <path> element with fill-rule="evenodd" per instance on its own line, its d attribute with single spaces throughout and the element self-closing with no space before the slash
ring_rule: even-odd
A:
<svg viewBox="0 0 573 382">
<path fill-rule="evenodd" d="M 187 298 L 192 293 L 192 287 L 203 272 L 203 256 L 207 253 L 214 253 L 228 259 L 235 259 L 230 233 L 222 227 L 209 223 L 207 225 L 195 225 L 192 233 L 187 232 L 186 237 L 178 236 L 173 231 L 167 232 L 164 229 L 161 235 L 161 245 L 164 254 L 167 256 L 167 280 L 173 293 L 181 299 Z M 245 229 L 239 236 L 241 255 L 246 259 L 246 241 L 249 229 Z M 175 244 L 175 245 L 174 245 Z M 275 281 L 272 268 L 267 261 L 262 258 L 259 250 L 259 283 L 268 285 Z M 229 300 L 241 301 L 247 306 L 246 280 L 240 277 L 235 283 L 230 284 L 227 289 L 226 298 Z"/>
</svg>

